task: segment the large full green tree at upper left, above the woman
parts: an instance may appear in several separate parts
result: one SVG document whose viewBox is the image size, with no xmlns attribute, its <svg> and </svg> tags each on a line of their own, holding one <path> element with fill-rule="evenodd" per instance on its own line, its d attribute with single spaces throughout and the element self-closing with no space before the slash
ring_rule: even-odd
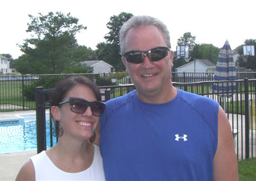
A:
<svg viewBox="0 0 256 181">
<path fill-rule="evenodd" d="M 20 45 L 21 51 L 27 54 L 27 61 L 22 65 L 27 63 L 28 67 L 35 69 L 27 69 L 26 73 L 62 72 L 71 62 L 68 56 L 70 49 L 78 46 L 75 34 L 86 27 L 78 25 L 78 19 L 70 13 L 49 12 L 46 15 L 39 13 L 39 17 L 28 16 L 31 22 L 27 32 L 31 32 L 31 38 Z M 20 72 L 19 69 L 17 71 Z"/>
</svg>

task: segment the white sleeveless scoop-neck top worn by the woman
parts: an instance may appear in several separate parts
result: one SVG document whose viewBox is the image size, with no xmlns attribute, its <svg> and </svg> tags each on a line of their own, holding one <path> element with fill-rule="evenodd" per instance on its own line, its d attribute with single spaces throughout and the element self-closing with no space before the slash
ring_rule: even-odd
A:
<svg viewBox="0 0 256 181">
<path fill-rule="evenodd" d="M 92 165 L 78 173 L 67 173 L 57 168 L 45 151 L 32 156 L 36 180 L 105 180 L 101 153 L 95 146 Z"/>
</svg>

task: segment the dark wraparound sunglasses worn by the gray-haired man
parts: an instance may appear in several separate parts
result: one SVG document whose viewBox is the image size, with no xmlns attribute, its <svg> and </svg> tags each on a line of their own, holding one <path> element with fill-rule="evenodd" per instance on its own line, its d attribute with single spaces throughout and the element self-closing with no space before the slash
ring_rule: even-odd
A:
<svg viewBox="0 0 256 181">
<path fill-rule="evenodd" d="M 167 47 L 152 48 L 149 51 L 129 51 L 123 54 L 123 57 L 129 63 L 140 64 L 144 61 L 145 57 L 148 56 L 151 61 L 158 61 L 168 55 L 170 51 Z"/>
</svg>

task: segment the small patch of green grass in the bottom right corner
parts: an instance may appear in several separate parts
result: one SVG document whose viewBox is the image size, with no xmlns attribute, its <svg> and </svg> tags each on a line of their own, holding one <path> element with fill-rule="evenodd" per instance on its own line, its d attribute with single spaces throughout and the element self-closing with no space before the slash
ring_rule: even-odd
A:
<svg viewBox="0 0 256 181">
<path fill-rule="evenodd" d="M 239 161 L 239 180 L 256 180 L 256 158 Z"/>
</svg>

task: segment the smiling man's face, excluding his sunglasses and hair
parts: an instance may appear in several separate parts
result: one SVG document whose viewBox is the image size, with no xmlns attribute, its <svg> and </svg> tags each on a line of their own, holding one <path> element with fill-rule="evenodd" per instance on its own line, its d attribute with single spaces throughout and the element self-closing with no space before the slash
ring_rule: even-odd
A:
<svg viewBox="0 0 256 181">
<path fill-rule="evenodd" d="M 167 47 L 162 32 L 155 26 L 140 26 L 130 29 L 125 38 L 125 52 L 148 51 L 152 48 Z M 128 63 L 122 59 L 138 93 L 160 93 L 170 88 L 173 53 L 159 61 L 151 61 L 146 56 L 140 64 Z"/>
</svg>

